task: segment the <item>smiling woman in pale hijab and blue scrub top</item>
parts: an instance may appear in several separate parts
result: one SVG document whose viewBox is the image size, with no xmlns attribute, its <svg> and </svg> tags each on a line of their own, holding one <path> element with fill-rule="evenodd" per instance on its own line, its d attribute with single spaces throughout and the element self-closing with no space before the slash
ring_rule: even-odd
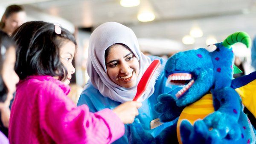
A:
<svg viewBox="0 0 256 144">
<path fill-rule="evenodd" d="M 100 25 L 90 36 L 87 61 L 90 80 L 84 87 L 78 105 L 87 104 L 90 111 L 97 112 L 132 101 L 140 78 L 154 59 L 159 59 L 162 65 L 166 63 L 159 57 L 143 55 L 137 37 L 130 28 L 116 22 Z M 135 124 L 126 125 L 125 135 L 114 144 L 136 141 L 138 137 L 132 133 L 136 128 L 155 137 L 165 127 L 170 126 L 172 122 L 159 122 L 159 114 L 155 112 L 154 105 L 157 104 L 159 94 L 171 91 L 172 89 L 166 87 L 166 78 L 161 72 L 157 81 L 151 82 L 145 94 L 138 99 L 143 103 L 135 120 L 139 127 L 135 127 Z"/>
</svg>

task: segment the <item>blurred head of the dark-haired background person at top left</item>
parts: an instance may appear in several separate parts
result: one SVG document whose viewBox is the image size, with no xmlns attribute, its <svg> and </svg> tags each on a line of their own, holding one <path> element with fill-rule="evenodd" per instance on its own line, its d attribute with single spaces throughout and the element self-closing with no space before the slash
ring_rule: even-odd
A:
<svg viewBox="0 0 256 144">
<path fill-rule="evenodd" d="M 21 6 L 8 6 L 0 21 L 0 29 L 8 35 L 12 35 L 15 29 L 24 23 L 25 19 L 26 13 Z"/>
</svg>

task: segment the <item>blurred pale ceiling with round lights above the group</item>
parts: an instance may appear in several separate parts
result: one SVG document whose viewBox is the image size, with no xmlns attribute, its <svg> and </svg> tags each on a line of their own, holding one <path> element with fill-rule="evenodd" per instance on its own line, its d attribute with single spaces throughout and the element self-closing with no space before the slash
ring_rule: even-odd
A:
<svg viewBox="0 0 256 144">
<path fill-rule="evenodd" d="M 7 2 L 8 1 L 8 2 Z M 236 31 L 256 35 L 256 0 L 141 0 L 139 6 L 122 7 L 119 0 L 6 0 L 20 3 L 57 17 L 75 26 L 87 28 L 107 21 L 122 23 L 134 30 L 139 38 L 171 39 L 182 43 L 193 26 L 199 26 L 204 36 L 185 48 L 203 47 L 207 37 L 224 40 Z M 156 19 L 139 22 L 137 14 L 149 7 Z"/>
</svg>

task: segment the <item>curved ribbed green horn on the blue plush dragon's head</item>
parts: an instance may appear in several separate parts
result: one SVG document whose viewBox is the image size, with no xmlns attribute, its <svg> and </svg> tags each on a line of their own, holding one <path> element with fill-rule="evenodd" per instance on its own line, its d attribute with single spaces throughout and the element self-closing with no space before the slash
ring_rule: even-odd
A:
<svg viewBox="0 0 256 144">
<path fill-rule="evenodd" d="M 223 46 L 230 49 L 235 43 L 244 43 L 247 48 L 251 46 L 250 36 L 246 32 L 235 32 L 232 35 L 229 35 L 224 41 Z"/>
</svg>

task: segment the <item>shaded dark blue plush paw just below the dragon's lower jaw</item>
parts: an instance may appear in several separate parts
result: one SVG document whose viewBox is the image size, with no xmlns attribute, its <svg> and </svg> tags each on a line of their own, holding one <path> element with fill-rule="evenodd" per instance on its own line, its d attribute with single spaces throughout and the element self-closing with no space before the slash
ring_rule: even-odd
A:
<svg viewBox="0 0 256 144">
<path fill-rule="evenodd" d="M 158 103 L 155 105 L 155 110 L 160 113 L 160 120 L 162 122 L 173 121 L 180 116 L 184 107 L 176 105 L 177 98 L 170 94 L 161 94 L 157 98 Z"/>
</svg>

